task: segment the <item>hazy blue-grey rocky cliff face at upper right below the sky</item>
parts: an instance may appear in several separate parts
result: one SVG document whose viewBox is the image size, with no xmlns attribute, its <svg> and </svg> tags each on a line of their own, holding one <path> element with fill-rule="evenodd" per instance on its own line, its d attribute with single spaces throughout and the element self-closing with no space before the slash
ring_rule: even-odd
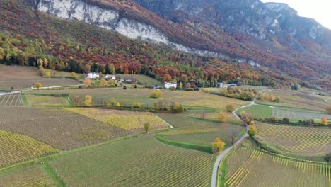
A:
<svg viewBox="0 0 331 187">
<path fill-rule="evenodd" d="M 313 19 L 298 16 L 286 4 L 264 4 L 260 0 L 134 1 L 172 21 L 181 22 L 185 16 L 178 18 L 178 15 L 186 15 L 191 19 L 216 23 L 230 34 L 244 33 L 260 40 L 291 35 L 297 40 L 319 42 L 331 47 L 331 30 Z"/>
</svg>

